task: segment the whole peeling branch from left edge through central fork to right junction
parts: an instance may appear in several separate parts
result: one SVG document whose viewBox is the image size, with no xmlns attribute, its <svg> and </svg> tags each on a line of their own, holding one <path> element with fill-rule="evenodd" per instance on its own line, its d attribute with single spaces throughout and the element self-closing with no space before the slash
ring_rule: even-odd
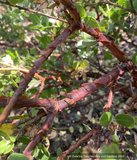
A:
<svg viewBox="0 0 137 160">
<path fill-rule="evenodd" d="M 119 78 L 119 69 L 116 68 L 109 72 L 108 74 L 96 79 L 92 83 L 84 83 L 81 88 L 78 90 L 73 90 L 71 93 L 66 93 L 66 97 L 60 101 L 59 103 L 59 110 L 63 110 L 64 108 L 68 107 L 71 104 L 85 98 L 86 96 L 90 95 L 92 92 L 97 91 L 99 87 L 104 86 L 105 84 L 112 83 L 114 80 Z M 14 108 L 23 108 L 23 107 L 45 107 L 47 110 L 52 108 L 57 101 L 54 99 L 20 99 L 15 104 Z M 6 100 L 0 100 L 0 107 L 6 105 Z"/>
</svg>

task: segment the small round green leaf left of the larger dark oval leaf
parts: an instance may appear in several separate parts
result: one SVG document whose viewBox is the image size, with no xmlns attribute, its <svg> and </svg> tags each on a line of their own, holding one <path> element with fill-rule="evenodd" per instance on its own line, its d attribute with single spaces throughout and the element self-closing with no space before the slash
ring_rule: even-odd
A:
<svg viewBox="0 0 137 160">
<path fill-rule="evenodd" d="M 112 116 L 110 112 L 105 112 L 100 117 L 99 121 L 101 126 L 105 127 L 111 122 Z"/>
</svg>

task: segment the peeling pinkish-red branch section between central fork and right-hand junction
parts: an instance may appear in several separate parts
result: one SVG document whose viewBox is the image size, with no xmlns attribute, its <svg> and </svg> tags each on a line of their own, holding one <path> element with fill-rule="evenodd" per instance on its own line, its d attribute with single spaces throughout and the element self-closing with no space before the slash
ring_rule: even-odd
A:
<svg viewBox="0 0 137 160">
<path fill-rule="evenodd" d="M 87 97 L 92 92 L 97 91 L 99 87 L 113 82 L 119 77 L 119 73 L 120 71 L 116 68 L 107 75 L 96 79 L 94 82 L 84 83 L 78 90 L 73 90 L 71 93 L 67 93 L 67 98 L 59 102 L 59 110 L 61 111 L 62 109 L 68 107 L 70 104 L 74 104 L 75 102 Z"/>
</svg>

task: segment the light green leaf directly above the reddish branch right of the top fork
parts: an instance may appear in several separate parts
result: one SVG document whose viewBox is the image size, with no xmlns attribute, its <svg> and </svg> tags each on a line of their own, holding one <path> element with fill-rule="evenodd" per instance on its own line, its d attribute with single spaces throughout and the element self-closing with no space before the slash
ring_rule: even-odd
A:
<svg viewBox="0 0 137 160">
<path fill-rule="evenodd" d="M 99 27 L 98 22 L 94 18 L 92 18 L 91 16 L 87 16 L 85 18 L 85 24 L 92 27 L 92 28 L 98 28 Z"/>
</svg>

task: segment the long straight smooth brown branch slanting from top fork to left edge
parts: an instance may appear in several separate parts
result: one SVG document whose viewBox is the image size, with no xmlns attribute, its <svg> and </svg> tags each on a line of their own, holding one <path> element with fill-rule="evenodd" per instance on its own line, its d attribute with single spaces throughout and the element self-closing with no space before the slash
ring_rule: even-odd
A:
<svg viewBox="0 0 137 160">
<path fill-rule="evenodd" d="M 43 55 L 34 63 L 32 69 L 29 71 L 29 73 L 26 75 L 24 81 L 20 84 L 17 91 L 14 93 L 13 97 L 11 98 L 8 105 L 5 107 L 3 113 L 0 115 L 0 127 L 3 124 L 3 122 L 8 117 L 10 111 L 12 110 L 13 106 L 15 105 L 18 98 L 23 94 L 25 91 L 28 83 L 32 80 L 34 74 L 37 72 L 37 70 L 41 67 L 41 65 L 44 63 L 45 60 L 51 55 L 53 50 L 62 42 L 66 40 L 66 38 L 71 35 L 73 32 L 77 30 L 76 26 L 67 27 L 64 32 L 56 38 L 54 42 L 51 43 L 51 45 L 46 49 L 46 51 L 43 53 Z"/>
</svg>

